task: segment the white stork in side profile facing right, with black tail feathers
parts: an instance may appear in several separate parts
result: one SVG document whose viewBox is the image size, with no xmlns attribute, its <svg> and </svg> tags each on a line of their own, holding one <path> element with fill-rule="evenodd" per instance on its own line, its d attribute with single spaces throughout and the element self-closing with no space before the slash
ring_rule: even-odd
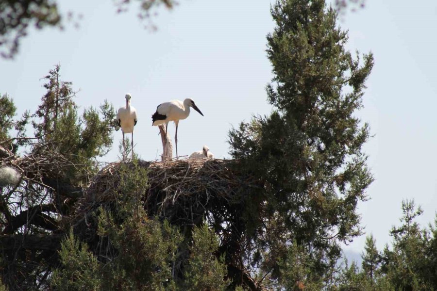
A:
<svg viewBox="0 0 437 291">
<path fill-rule="evenodd" d="M 166 124 L 166 136 L 168 123 L 174 121 L 176 125 L 176 134 L 174 135 L 174 142 L 176 144 L 176 159 L 178 159 L 178 125 L 179 120 L 185 119 L 190 115 L 190 107 L 196 110 L 203 116 L 203 113 L 196 106 L 194 101 L 190 98 L 186 98 L 184 102 L 180 100 L 171 100 L 164 102 L 156 107 L 156 112 L 152 115 L 152 126 L 158 126 L 160 124 Z"/>
</svg>

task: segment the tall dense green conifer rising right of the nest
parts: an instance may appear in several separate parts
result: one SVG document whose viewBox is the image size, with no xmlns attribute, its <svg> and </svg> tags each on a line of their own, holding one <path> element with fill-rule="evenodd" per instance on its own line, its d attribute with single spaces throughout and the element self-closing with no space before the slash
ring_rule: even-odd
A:
<svg viewBox="0 0 437 291">
<path fill-rule="evenodd" d="M 355 113 L 373 57 L 345 50 L 347 32 L 323 0 L 279 0 L 271 13 L 273 112 L 229 133 L 238 166 L 262 185 L 245 200 L 242 224 L 258 246 L 246 257 L 279 277 L 278 262 L 295 241 L 306 248 L 312 272 L 323 276 L 340 255 L 337 242 L 361 233 L 356 205 L 366 200 L 372 176 L 362 152 L 369 126 Z"/>
</svg>

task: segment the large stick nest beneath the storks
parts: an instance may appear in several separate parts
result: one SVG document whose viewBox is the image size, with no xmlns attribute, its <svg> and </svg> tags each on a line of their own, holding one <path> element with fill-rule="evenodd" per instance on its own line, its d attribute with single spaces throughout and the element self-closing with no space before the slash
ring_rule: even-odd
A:
<svg viewBox="0 0 437 291">
<path fill-rule="evenodd" d="M 150 216 L 164 217 L 179 226 L 198 225 L 204 218 L 217 223 L 222 220 L 218 216 L 241 202 L 242 194 L 247 194 L 255 185 L 250 177 L 235 174 L 231 169 L 233 162 L 206 159 L 139 161 L 138 166 L 148 169 L 150 185 L 146 193 L 140 195 L 144 208 Z M 90 224 L 93 213 L 100 207 L 111 209 L 117 199 L 120 165 L 121 162 L 114 162 L 103 168 L 76 204 L 77 209 L 72 211 L 76 213 L 72 222 L 76 231 L 82 232 L 88 242 L 96 239 L 96 229 Z M 130 163 L 128 166 L 133 168 Z"/>
</svg>

